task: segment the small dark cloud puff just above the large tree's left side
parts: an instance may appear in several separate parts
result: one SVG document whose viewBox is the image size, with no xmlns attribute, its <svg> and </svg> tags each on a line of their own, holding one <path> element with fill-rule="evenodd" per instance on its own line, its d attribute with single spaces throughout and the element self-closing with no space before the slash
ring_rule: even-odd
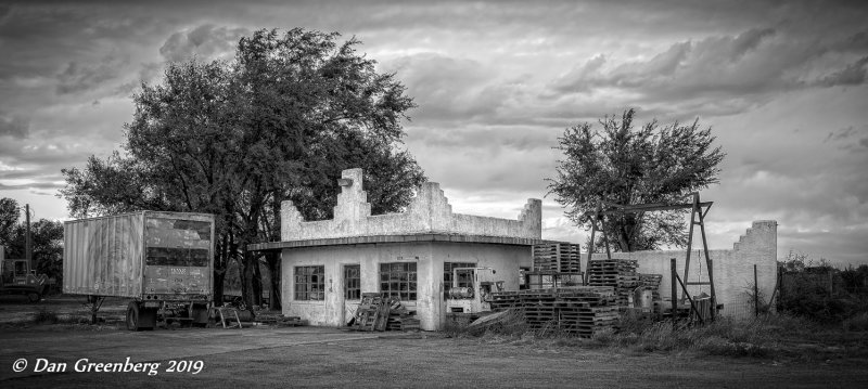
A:
<svg viewBox="0 0 868 389">
<path fill-rule="evenodd" d="M 181 62 L 192 56 L 202 61 L 229 60 L 234 55 L 241 37 L 250 35 L 246 28 L 217 27 L 212 24 L 199 26 L 189 31 L 178 31 L 169 36 L 159 55 L 166 61 Z"/>
</svg>

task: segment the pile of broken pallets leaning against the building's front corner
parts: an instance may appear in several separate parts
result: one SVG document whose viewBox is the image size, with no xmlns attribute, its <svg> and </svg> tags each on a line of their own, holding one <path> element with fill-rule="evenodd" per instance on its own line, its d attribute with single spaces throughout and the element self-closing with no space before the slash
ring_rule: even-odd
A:
<svg viewBox="0 0 868 389">
<path fill-rule="evenodd" d="M 352 327 L 357 330 L 411 330 L 419 329 L 419 319 L 416 311 L 408 310 L 399 300 L 385 299 L 378 293 L 365 293 Z"/>
</svg>

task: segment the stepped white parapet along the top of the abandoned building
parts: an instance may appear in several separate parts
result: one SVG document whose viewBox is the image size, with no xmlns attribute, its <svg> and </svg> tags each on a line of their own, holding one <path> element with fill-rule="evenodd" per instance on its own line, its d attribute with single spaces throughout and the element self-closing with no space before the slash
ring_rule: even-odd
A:
<svg viewBox="0 0 868 389">
<path fill-rule="evenodd" d="M 341 177 L 341 193 L 332 220 L 304 221 L 292 202 L 281 204 L 282 241 L 424 233 L 541 238 L 539 199 L 528 199 L 516 220 L 452 213 L 439 184 L 426 182 L 419 187 L 406 212 L 371 216 L 362 170 L 344 170 Z"/>
</svg>

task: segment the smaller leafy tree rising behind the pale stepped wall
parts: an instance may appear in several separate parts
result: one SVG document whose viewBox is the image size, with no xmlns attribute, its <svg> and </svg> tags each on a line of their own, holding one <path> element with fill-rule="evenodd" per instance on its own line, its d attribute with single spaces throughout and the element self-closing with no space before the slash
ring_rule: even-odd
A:
<svg viewBox="0 0 868 389">
<path fill-rule="evenodd" d="M 549 193 L 577 225 L 589 225 L 586 212 L 603 203 L 682 203 L 688 194 L 718 182 L 725 154 L 713 146 L 711 128 L 700 129 L 699 120 L 666 126 L 652 120 L 635 129 L 635 114 L 627 109 L 621 120 L 607 116 L 600 120 L 601 129 L 584 122 L 558 139 L 556 148 L 565 159 L 558 161 Z M 635 251 L 684 246 L 686 224 L 682 211 L 658 211 L 609 217 L 599 228 L 615 249 Z"/>
</svg>

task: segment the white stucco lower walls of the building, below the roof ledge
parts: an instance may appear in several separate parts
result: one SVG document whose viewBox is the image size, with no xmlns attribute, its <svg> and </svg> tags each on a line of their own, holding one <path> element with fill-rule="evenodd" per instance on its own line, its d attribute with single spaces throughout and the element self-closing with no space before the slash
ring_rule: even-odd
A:
<svg viewBox="0 0 868 389">
<path fill-rule="evenodd" d="M 505 281 L 507 290 L 519 289 L 519 268 L 531 265 L 531 247 L 477 243 L 419 242 L 360 244 L 284 249 L 282 254 L 283 314 L 301 316 L 311 325 L 343 326 L 358 301 L 344 300 L 344 265 L 359 264 L 361 291 L 380 291 L 380 263 L 417 263 L 416 301 L 405 304 L 416 309 L 422 329 L 439 329 L 445 320 L 443 298 L 444 262 L 475 262 L 490 267 Z M 322 301 L 297 301 L 295 267 L 323 265 L 326 295 Z"/>
</svg>

